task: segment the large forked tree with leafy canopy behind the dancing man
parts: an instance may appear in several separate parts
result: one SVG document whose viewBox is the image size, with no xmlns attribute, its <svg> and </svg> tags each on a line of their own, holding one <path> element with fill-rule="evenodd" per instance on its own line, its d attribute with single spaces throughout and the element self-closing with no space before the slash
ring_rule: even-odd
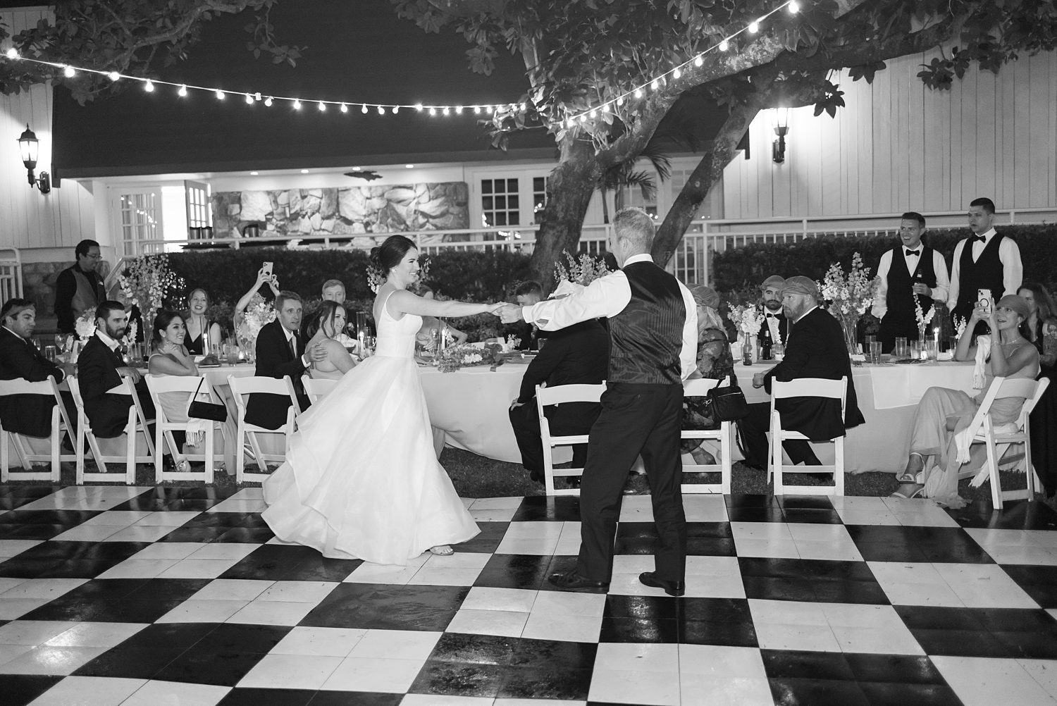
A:
<svg viewBox="0 0 1057 706">
<path fill-rule="evenodd" d="M 426 32 L 462 33 L 475 71 L 488 73 L 503 45 L 522 57 L 528 93 L 488 128 L 497 146 L 525 129 L 548 130 L 557 143 L 532 260 L 543 280 L 562 249 L 575 249 L 606 170 L 639 154 L 687 91 L 706 91 L 729 114 L 662 226 L 662 259 L 759 110 L 790 100 L 832 115 L 842 99 L 829 72 L 871 80 L 886 59 L 957 39 L 960 50 L 922 72 L 943 88 L 972 62 L 994 71 L 1018 51 L 1053 49 L 1057 29 L 1045 0 L 817 0 L 795 14 L 775 0 L 390 1 Z M 742 31 L 765 14 L 758 34 Z"/>
</svg>

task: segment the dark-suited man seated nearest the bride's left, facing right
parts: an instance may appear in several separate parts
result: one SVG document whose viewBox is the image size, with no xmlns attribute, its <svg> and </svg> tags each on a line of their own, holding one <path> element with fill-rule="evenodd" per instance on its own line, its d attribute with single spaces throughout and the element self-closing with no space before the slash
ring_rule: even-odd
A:
<svg viewBox="0 0 1057 706">
<path fill-rule="evenodd" d="M 301 384 L 301 374 L 316 360 L 327 357 L 327 350 L 313 346 L 304 350 L 300 334 L 303 304 L 294 292 L 280 292 L 275 299 L 275 320 L 261 327 L 257 334 L 257 370 L 262 377 L 290 375 L 302 410 L 309 408 L 309 396 Z M 278 429 L 286 421 L 291 405 L 289 395 L 252 394 L 246 403 L 246 422 L 265 429 Z"/>
</svg>

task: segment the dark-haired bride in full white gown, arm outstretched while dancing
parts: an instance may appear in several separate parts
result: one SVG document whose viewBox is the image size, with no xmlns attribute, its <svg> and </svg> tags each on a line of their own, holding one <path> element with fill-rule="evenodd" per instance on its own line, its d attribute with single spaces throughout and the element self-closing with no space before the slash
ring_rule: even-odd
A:
<svg viewBox="0 0 1057 706">
<path fill-rule="evenodd" d="M 298 417 L 286 462 L 264 481 L 262 517 L 279 539 L 326 557 L 406 565 L 480 532 L 433 451 L 414 336 L 423 316 L 495 314 L 502 303 L 408 292 L 419 252 L 404 236 L 375 247 L 371 262 L 387 276 L 374 299 L 375 355 Z"/>
</svg>

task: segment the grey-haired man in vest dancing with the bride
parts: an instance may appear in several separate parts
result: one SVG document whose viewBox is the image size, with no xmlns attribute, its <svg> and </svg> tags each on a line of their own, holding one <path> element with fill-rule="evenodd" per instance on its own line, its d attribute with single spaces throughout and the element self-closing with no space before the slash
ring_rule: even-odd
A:
<svg viewBox="0 0 1057 706">
<path fill-rule="evenodd" d="M 698 310 L 689 291 L 653 263 L 653 235 L 646 211 L 619 210 L 608 241 L 618 272 L 563 299 L 523 309 L 507 304 L 502 311 L 504 323 L 523 319 L 543 331 L 609 318 L 608 383 L 580 486 L 580 554 L 576 569 L 549 579 L 567 591 L 609 590 L 624 484 L 639 454 L 652 491 L 657 544 L 654 571 L 638 580 L 672 596 L 686 590 L 679 436 L 683 380 L 696 363 Z"/>
</svg>

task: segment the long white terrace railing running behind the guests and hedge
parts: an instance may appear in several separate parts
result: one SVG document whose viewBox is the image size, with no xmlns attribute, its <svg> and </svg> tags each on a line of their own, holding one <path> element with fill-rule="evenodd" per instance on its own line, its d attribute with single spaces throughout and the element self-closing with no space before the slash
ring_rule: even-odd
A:
<svg viewBox="0 0 1057 706">
<path fill-rule="evenodd" d="M 864 217 L 827 216 L 818 218 L 773 218 L 761 220 L 697 220 L 690 223 L 682 241 L 668 261 L 668 272 L 684 282 L 708 284 L 712 256 L 731 247 L 749 243 L 793 243 L 806 238 L 838 236 L 859 238 L 868 236 L 895 236 L 901 213 L 878 213 Z M 925 213 L 928 227 L 946 230 L 965 227 L 963 211 Z M 999 211 L 997 224 L 1057 222 L 1057 208 L 1025 208 Z M 579 252 L 598 255 L 606 252 L 609 224 L 585 225 L 580 233 Z M 426 255 L 447 250 L 509 250 L 531 254 L 536 244 L 537 225 L 474 228 L 461 230 L 421 230 L 405 233 L 415 241 Z M 212 238 L 209 240 L 142 240 L 136 244 L 140 254 L 175 252 L 183 245 L 214 245 L 235 247 L 248 245 L 276 245 L 304 248 L 359 248 L 370 249 L 392 234 L 364 233 L 341 235 L 261 236 L 259 238 Z M 111 277 L 120 272 L 122 262 L 111 271 Z M 108 286 L 111 278 L 108 278 Z M 19 287 L 21 283 L 19 282 Z"/>
</svg>

